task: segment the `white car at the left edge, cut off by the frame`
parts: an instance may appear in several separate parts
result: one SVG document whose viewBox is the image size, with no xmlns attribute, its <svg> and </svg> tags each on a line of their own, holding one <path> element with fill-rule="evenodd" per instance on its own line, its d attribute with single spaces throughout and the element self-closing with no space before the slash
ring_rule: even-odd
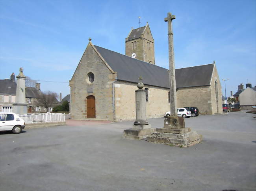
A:
<svg viewBox="0 0 256 191">
<path fill-rule="evenodd" d="M 13 131 L 17 134 L 25 127 L 25 122 L 15 113 L 0 113 L 0 131 Z"/>
</svg>

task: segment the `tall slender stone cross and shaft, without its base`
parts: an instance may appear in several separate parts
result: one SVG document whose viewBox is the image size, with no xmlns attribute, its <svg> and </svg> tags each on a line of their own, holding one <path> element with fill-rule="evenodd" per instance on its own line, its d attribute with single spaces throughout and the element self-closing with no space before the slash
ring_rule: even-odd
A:
<svg viewBox="0 0 256 191">
<path fill-rule="evenodd" d="M 172 27 L 173 19 L 175 19 L 175 15 L 172 15 L 171 13 L 167 13 L 167 18 L 165 18 L 164 21 L 168 22 L 170 111 L 171 111 L 171 116 L 177 116 L 176 79 L 175 79 L 175 64 L 174 64 L 174 51 L 173 51 L 173 27 Z"/>
</svg>

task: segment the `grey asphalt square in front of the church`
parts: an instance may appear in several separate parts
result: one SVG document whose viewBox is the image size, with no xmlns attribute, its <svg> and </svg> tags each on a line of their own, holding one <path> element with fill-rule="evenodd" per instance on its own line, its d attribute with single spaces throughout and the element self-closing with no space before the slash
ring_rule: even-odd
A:
<svg viewBox="0 0 256 191">
<path fill-rule="evenodd" d="M 132 122 L 82 121 L 0 133 L 0 190 L 255 191 L 252 116 L 187 118 L 186 127 L 204 138 L 189 148 L 122 139 Z M 149 122 L 161 127 L 163 118 Z"/>
</svg>

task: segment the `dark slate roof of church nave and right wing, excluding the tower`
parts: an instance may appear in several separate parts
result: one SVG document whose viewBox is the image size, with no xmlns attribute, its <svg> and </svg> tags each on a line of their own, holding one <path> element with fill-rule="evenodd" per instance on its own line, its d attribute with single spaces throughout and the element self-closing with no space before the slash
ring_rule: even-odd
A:
<svg viewBox="0 0 256 191">
<path fill-rule="evenodd" d="M 108 65 L 117 72 L 117 79 L 128 82 L 142 82 L 147 85 L 169 88 L 168 70 L 154 64 L 122 55 L 117 52 L 94 45 Z M 214 64 L 176 69 L 176 87 L 193 87 L 210 85 Z"/>
</svg>

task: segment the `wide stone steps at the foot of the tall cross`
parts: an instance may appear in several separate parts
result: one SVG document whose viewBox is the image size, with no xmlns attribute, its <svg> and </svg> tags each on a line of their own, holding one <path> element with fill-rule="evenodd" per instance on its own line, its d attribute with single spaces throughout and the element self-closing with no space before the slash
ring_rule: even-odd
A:
<svg viewBox="0 0 256 191">
<path fill-rule="evenodd" d="M 147 140 L 149 142 L 167 144 L 170 146 L 190 147 L 202 142 L 202 135 L 198 135 L 191 128 L 156 128 Z"/>
</svg>

